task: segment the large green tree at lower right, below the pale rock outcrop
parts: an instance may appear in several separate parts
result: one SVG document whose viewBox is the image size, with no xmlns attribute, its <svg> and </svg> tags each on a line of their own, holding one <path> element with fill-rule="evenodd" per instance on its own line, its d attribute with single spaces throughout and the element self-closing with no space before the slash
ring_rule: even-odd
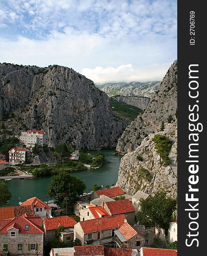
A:
<svg viewBox="0 0 207 256">
<path fill-rule="evenodd" d="M 176 204 L 177 200 L 167 197 L 165 192 L 156 192 L 147 200 L 140 200 L 141 208 L 137 212 L 136 221 L 145 227 L 161 227 L 167 232 Z"/>
</svg>

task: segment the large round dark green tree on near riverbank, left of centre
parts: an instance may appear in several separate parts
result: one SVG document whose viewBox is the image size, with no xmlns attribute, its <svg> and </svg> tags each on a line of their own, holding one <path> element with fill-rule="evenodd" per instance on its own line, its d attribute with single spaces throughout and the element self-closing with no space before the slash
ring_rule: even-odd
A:
<svg viewBox="0 0 207 256">
<path fill-rule="evenodd" d="M 64 198 L 67 197 L 68 207 L 72 207 L 78 195 L 85 190 L 85 183 L 71 176 L 68 172 L 60 171 L 57 175 L 52 176 L 51 183 L 48 187 L 48 195 L 55 199 L 58 206 L 64 206 Z"/>
</svg>

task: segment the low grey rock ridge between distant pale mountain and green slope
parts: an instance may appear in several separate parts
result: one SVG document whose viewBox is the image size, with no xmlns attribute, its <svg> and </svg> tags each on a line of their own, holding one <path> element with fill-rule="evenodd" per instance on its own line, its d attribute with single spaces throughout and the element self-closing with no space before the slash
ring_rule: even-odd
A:
<svg viewBox="0 0 207 256">
<path fill-rule="evenodd" d="M 135 106 L 142 110 L 147 108 L 147 105 L 150 103 L 150 98 L 147 97 L 138 97 L 138 96 L 113 96 L 112 99 L 115 99 L 118 102 L 125 102 L 128 105 Z"/>
</svg>

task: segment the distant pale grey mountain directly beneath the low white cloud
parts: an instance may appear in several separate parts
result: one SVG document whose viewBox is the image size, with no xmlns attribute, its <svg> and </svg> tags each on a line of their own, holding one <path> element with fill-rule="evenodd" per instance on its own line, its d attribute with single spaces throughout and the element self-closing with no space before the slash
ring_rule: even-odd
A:
<svg viewBox="0 0 207 256">
<path fill-rule="evenodd" d="M 151 98 L 158 89 L 160 82 L 129 82 L 96 84 L 96 86 L 108 94 L 108 96 L 143 96 Z"/>
</svg>

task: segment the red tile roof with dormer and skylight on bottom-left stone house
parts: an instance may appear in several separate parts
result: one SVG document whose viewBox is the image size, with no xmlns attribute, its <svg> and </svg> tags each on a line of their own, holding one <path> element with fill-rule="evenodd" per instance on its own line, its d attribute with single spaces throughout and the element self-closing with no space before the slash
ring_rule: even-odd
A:
<svg viewBox="0 0 207 256">
<path fill-rule="evenodd" d="M 25 230 L 25 227 L 28 226 L 28 230 Z M 29 219 L 25 217 L 13 218 L 9 221 L 5 226 L 0 228 L 0 234 L 6 234 L 8 230 L 11 228 L 17 228 L 19 230 L 19 234 L 43 234 L 43 229 L 37 227 L 34 223 L 32 223 Z"/>
</svg>

